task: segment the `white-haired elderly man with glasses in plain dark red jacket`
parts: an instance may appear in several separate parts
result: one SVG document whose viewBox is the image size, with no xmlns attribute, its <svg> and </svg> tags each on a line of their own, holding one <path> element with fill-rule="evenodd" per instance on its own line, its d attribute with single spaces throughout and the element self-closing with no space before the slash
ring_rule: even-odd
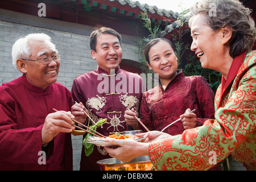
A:
<svg viewBox="0 0 256 182">
<path fill-rule="evenodd" d="M 56 82 L 57 53 L 46 34 L 13 45 L 23 75 L 0 86 L 0 170 L 72 170 L 72 98 Z"/>
</svg>

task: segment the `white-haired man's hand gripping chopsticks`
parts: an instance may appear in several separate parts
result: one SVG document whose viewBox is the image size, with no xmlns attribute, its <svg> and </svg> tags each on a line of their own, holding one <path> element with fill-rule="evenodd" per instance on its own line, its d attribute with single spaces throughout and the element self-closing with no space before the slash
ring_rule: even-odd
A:
<svg viewBox="0 0 256 182">
<path fill-rule="evenodd" d="M 42 144 L 50 142 L 60 132 L 71 133 L 75 129 L 71 112 L 57 111 L 48 114 L 42 129 Z"/>
</svg>

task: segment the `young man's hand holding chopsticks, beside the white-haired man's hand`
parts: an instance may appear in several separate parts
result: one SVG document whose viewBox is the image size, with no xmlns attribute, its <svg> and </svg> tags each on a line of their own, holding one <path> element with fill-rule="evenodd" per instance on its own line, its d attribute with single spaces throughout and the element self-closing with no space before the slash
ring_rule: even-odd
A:
<svg viewBox="0 0 256 182">
<path fill-rule="evenodd" d="M 79 104 L 76 103 L 71 107 L 72 114 L 75 116 L 76 121 L 79 121 L 80 123 L 84 124 L 85 120 L 87 118 L 87 115 L 84 113 L 84 111 L 88 113 L 88 110 L 85 108 L 85 106 L 80 102 Z"/>
</svg>

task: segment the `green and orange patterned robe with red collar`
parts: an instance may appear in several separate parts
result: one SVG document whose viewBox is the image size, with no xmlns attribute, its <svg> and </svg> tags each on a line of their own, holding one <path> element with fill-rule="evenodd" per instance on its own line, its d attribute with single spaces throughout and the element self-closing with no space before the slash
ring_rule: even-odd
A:
<svg viewBox="0 0 256 182">
<path fill-rule="evenodd" d="M 158 170 L 207 170 L 229 154 L 248 170 L 256 169 L 255 65 L 256 51 L 235 57 L 216 92 L 215 119 L 150 144 L 150 159 Z"/>
</svg>

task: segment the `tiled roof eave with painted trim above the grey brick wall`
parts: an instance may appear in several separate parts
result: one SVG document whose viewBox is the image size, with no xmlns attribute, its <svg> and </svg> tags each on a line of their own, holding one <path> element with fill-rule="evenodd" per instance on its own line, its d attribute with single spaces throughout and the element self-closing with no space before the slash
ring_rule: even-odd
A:
<svg viewBox="0 0 256 182">
<path fill-rule="evenodd" d="M 0 2 L 2 9 L 38 15 L 39 0 Z M 159 23 L 162 30 L 166 28 L 166 32 L 171 31 L 170 28 L 177 24 L 176 20 L 179 17 L 179 13 L 172 10 L 159 9 L 156 6 L 149 6 L 147 3 L 134 0 L 46 0 L 45 3 L 47 6 L 46 18 L 89 26 L 102 24 L 119 28 L 119 31 L 127 35 L 135 35 L 137 34 L 136 31 L 139 30 L 138 28 L 143 27 L 141 13 L 144 10 L 147 11 L 151 22 Z M 122 28 L 118 24 L 122 24 Z M 142 29 L 140 29 L 140 33 L 142 35 L 147 34 L 147 31 Z"/>
</svg>

